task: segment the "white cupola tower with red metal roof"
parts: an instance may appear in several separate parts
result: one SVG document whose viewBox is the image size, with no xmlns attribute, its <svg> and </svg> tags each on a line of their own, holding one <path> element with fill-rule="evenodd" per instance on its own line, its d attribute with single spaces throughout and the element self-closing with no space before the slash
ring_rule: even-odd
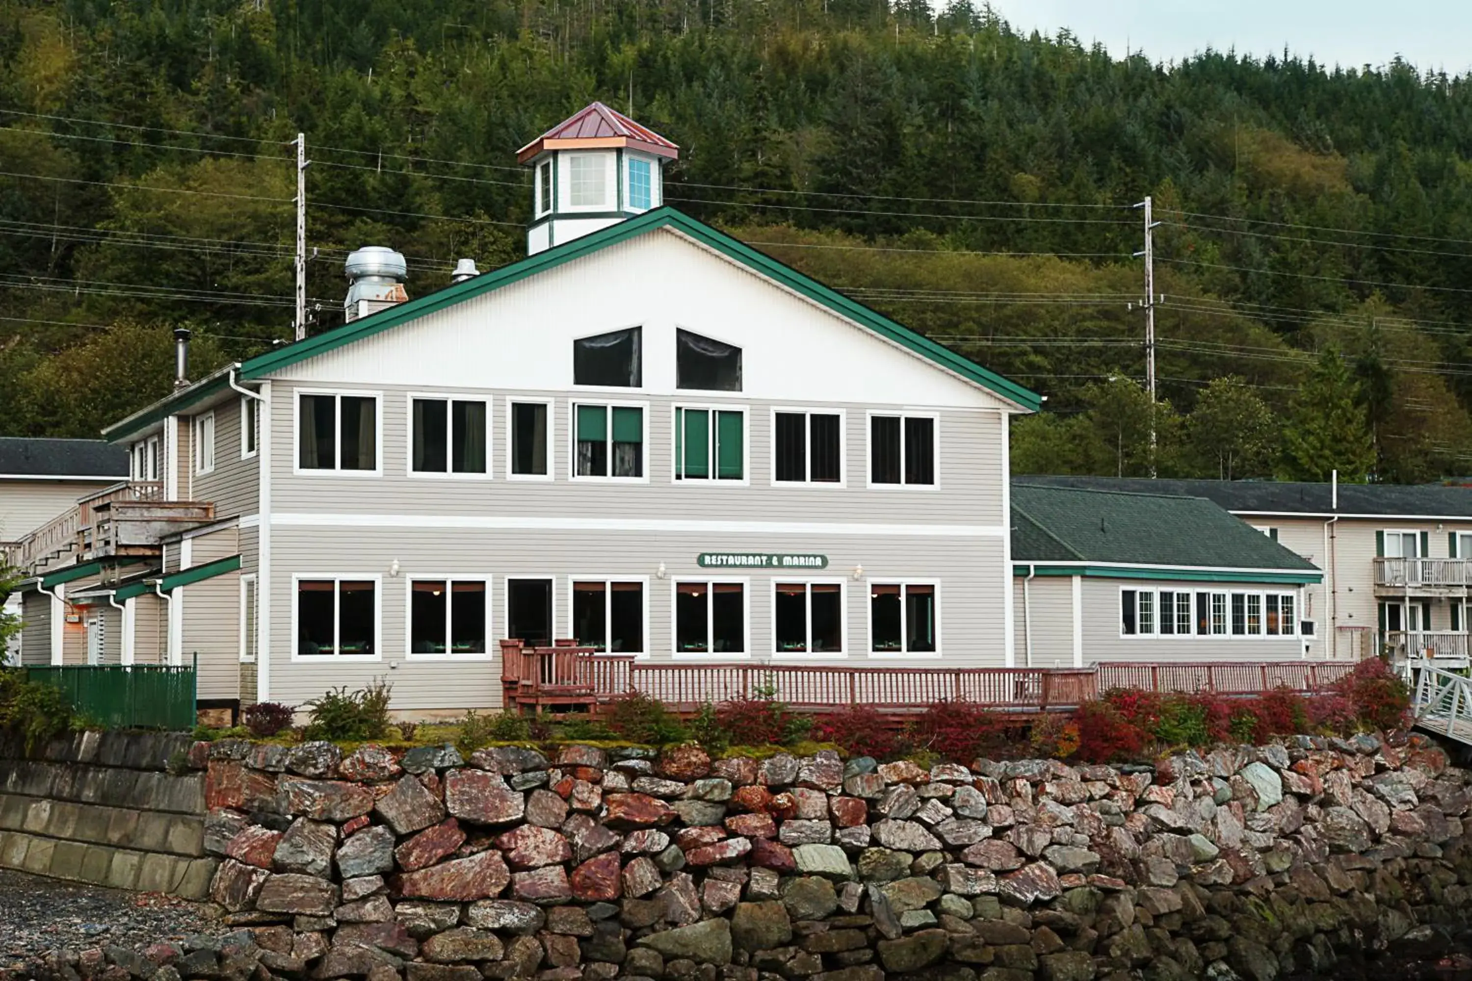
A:
<svg viewBox="0 0 1472 981">
<path fill-rule="evenodd" d="M 527 254 L 642 215 L 664 203 L 665 160 L 680 147 L 601 101 L 517 151 L 533 171 Z"/>
</svg>

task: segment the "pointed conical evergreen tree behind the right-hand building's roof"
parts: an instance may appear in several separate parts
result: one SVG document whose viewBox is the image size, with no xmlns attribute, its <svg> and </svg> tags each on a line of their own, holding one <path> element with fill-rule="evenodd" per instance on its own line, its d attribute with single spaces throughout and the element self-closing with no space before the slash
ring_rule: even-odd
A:
<svg viewBox="0 0 1472 981">
<path fill-rule="evenodd" d="M 1359 402 L 1360 387 L 1340 352 L 1326 347 L 1309 375 L 1284 431 L 1279 479 L 1363 484 L 1375 469 L 1375 444 Z"/>
</svg>

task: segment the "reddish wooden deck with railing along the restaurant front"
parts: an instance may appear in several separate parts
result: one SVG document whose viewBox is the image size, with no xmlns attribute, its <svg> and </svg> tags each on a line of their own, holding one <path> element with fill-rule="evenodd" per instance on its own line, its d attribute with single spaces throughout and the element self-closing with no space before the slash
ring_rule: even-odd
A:
<svg viewBox="0 0 1472 981">
<path fill-rule="evenodd" d="M 523 647 L 502 641 L 506 707 L 598 712 L 642 693 L 677 712 L 732 699 L 773 697 L 796 709 L 849 704 L 919 710 L 936 702 L 973 702 L 1019 713 L 1066 709 L 1108 688 L 1214 691 L 1244 696 L 1288 687 L 1314 693 L 1348 674 L 1350 662 L 1182 663 L 1116 662 L 1092 668 L 855 668 L 849 665 L 668 663 L 599 654 L 571 641 Z"/>
</svg>

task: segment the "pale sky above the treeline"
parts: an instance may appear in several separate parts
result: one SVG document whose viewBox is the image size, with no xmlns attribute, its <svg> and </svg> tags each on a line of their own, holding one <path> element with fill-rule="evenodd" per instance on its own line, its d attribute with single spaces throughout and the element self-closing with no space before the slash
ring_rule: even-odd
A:
<svg viewBox="0 0 1472 981">
<path fill-rule="evenodd" d="M 977 3 L 977 7 L 982 4 Z M 1114 56 L 1181 60 L 1207 47 L 1254 56 L 1288 46 L 1320 63 L 1385 65 L 1400 54 L 1425 71 L 1472 71 L 1469 0 L 991 0 L 1014 28 L 1069 28 Z"/>
</svg>

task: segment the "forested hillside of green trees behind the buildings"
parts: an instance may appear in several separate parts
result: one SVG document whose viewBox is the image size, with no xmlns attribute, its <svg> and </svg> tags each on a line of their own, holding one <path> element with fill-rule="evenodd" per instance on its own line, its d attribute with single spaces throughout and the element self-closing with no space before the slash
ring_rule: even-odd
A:
<svg viewBox="0 0 1472 981">
<path fill-rule="evenodd" d="M 671 204 L 1045 393 L 1019 471 L 1472 472 L 1468 79 L 919 0 L 0 0 L 0 432 L 166 393 L 174 325 L 196 374 L 290 337 L 297 131 L 315 331 L 349 249 L 517 259 L 514 150 L 593 99 L 683 147 Z"/>
</svg>

